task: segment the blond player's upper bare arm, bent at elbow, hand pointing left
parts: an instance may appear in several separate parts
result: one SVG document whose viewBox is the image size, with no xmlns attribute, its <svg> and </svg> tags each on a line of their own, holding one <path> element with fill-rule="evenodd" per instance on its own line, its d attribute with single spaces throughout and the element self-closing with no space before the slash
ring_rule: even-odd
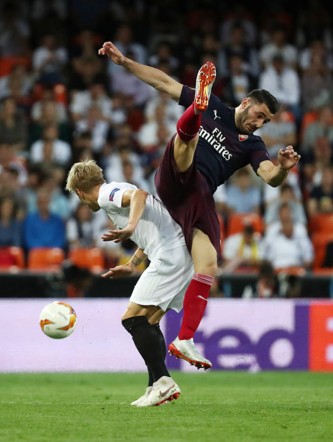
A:
<svg viewBox="0 0 333 442">
<path fill-rule="evenodd" d="M 145 210 L 147 196 L 148 192 L 141 189 L 130 189 L 124 192 L 122 207 L 129 206 L 128 224 L 121 230 L 109 230 L 108 233 L 103 233 L 102 240 L 119 243 L 130 238 Z"/>
</svg>

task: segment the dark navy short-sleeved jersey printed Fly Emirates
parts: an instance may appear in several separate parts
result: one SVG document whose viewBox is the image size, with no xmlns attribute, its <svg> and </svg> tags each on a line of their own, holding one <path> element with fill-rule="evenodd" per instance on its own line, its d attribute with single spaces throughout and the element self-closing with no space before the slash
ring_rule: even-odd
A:
<svg viewBox="0 0 333 442">
<path fill-rule="evenodd" d="M 194 89 L 183 86 L 179 105 L 188 108 L 194 95 Z M 212 193 L 237 169 L 251 164 L 256 172 L 262 161 L 269 160 L 262 139 L 240 134 L 234 116 L 234 108 L 228 108 L 215 95 L 210 96 L 208 108 L 201 116 L 195 164 Z"/>
</svg>

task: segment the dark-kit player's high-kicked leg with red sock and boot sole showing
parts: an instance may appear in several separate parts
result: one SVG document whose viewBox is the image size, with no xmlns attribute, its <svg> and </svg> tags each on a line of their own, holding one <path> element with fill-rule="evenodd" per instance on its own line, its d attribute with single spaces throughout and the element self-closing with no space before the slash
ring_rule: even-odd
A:
<svg viewBox="0 0 333 442">
<path fill-rule="evenodd" d="M 184 172 L 192 164 L 195 148 L 198 143 L 201 114 L 208 107 L 211 88 L 215 78 L 215 65 L 207 61 L 199 69 L 197 75 L 194 102 L 181 115 L 177 123 L 174 158 L 180 172 Z"/>
</svg>

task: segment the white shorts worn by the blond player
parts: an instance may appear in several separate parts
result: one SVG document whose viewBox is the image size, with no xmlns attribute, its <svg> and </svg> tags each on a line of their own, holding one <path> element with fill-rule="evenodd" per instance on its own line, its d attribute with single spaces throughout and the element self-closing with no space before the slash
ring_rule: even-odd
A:
<svg viewBox="0 0 333 442">
<path fill-rule="evenodd" d="M 129 301 L 179 312 L 193 272 L 192 258 L 186 246 L 164 251 L 153 258 L 140 276 Z"/>
</svg>

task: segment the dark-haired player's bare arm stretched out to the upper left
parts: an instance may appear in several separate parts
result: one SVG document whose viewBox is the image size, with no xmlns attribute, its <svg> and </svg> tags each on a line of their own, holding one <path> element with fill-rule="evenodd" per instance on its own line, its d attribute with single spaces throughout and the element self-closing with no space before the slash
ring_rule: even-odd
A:
<svg viewBox="0 0 333 442">
<path fill-rule="evenodd" d="M 155 69 L 152 66 L 137 63 L 127 58 L 110 41 L 106 41 L 98 51 L 99 55 L 107 55 L 114 63 L 124 66 L 129 72 L 143 82 L 153 86 L 157 90 L 166 92 L 176 101 L 179 101 L 182 84 L 176 82 L 172 77 Z"/>
</svg>

